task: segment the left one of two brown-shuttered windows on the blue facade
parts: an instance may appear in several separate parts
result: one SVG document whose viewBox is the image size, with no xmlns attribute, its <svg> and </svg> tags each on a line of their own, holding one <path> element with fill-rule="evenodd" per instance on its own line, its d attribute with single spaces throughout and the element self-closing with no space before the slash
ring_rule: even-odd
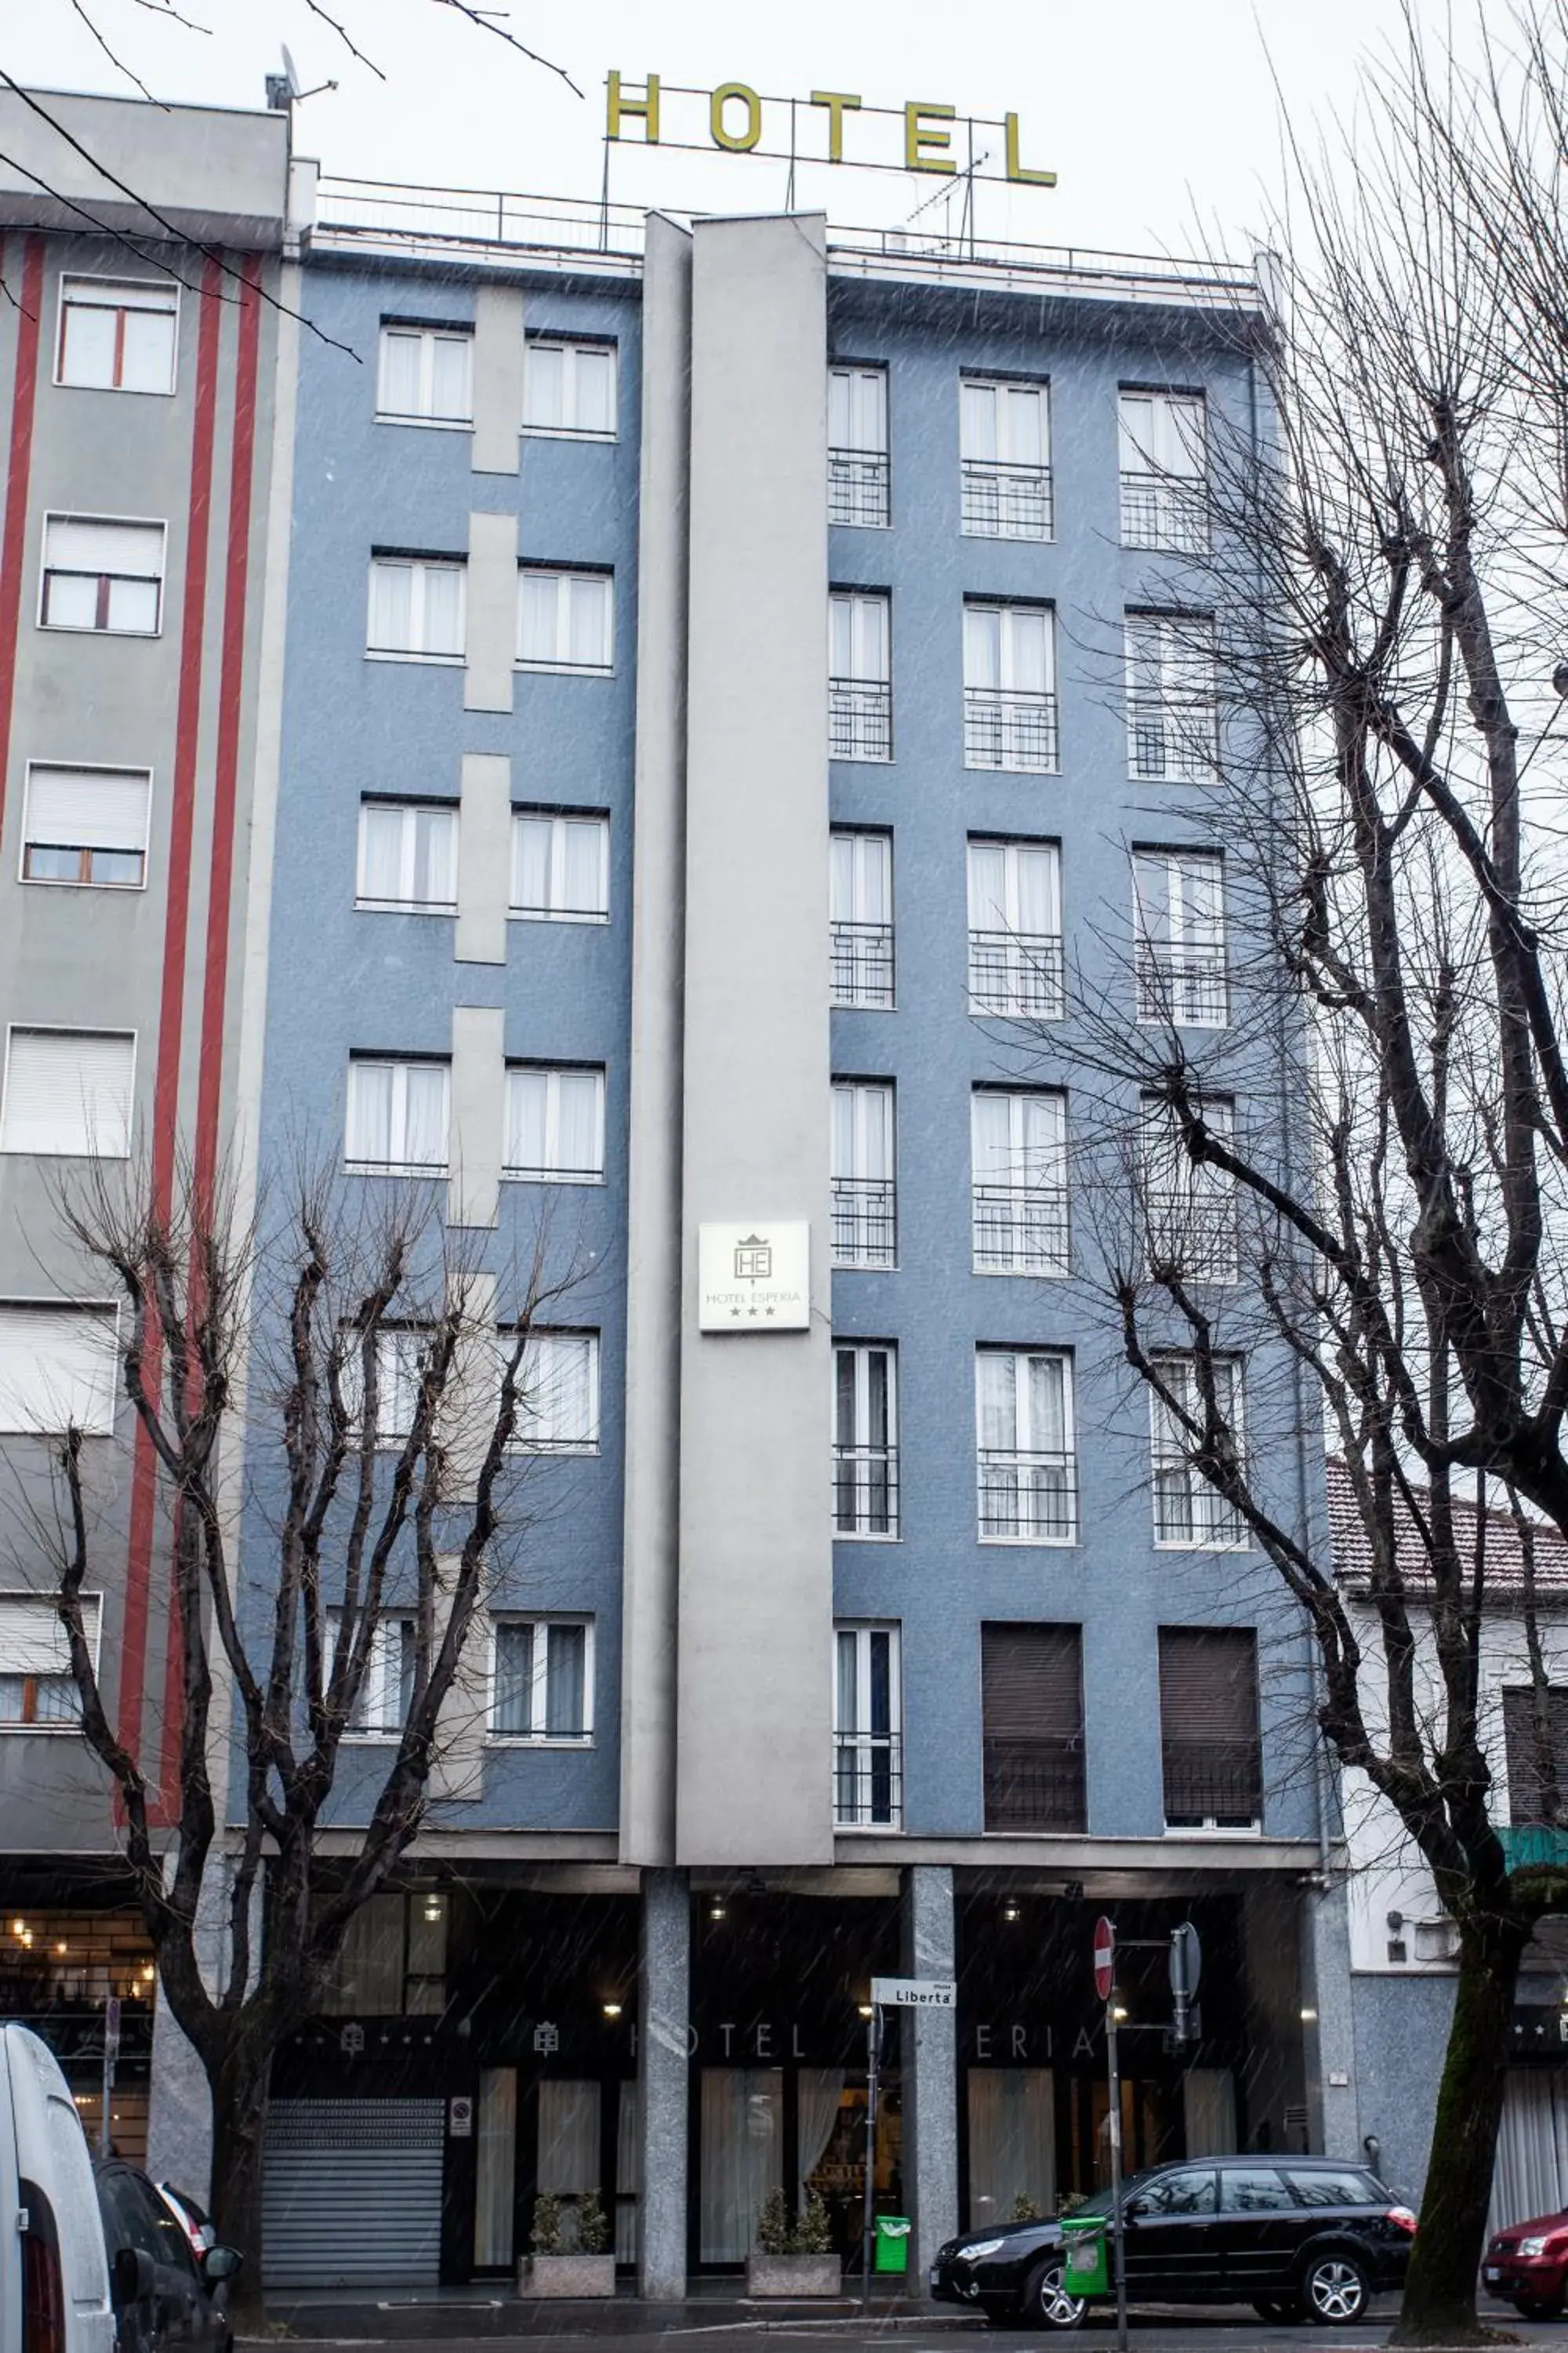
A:
<svg viewBox="0 0 1568 2353">
<path fill-rule="evenodd" d="M 1084 1631 L 983 1626 L 985 1828 L 1084 1831 Z"/>
</svg>

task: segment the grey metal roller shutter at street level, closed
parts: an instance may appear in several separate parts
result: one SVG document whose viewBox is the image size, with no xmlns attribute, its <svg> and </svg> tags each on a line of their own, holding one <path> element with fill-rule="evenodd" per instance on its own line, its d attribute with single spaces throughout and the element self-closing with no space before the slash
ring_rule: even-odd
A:
<svg viewBox="0 0 1568 2353">
<path fill-rule="evenodd" d="M 280 2099 L 266 2132 L 268 2287 L 435 2287 L 440 2099 Z"/>
</svg>

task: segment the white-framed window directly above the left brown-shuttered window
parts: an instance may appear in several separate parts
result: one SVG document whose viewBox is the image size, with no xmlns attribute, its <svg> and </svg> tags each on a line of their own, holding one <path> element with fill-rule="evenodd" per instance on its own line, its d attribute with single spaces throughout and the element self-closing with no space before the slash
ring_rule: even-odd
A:
<svg viewBox="0 0 1568 2353">
<path fill-rule="evenodd" d="M 980 1541 L 1074 1544 L 1072 1360 L 1044 1348 L 976 1351 Z"/>
</svg>

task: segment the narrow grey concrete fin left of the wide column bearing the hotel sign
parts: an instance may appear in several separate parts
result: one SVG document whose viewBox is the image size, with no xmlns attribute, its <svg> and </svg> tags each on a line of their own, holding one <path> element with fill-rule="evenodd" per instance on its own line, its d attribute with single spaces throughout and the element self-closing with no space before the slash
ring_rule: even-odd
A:
<svg viewBox="0 0 1568 2353">
<path fill-rule="evenodd" d="M 675 1859 L 689 461 L 691 235 L 651 212 L 642 261 L 637 864 L 625 1249 L 621 1553 L 621 1859 L 625 1864 Z"/>
</svg>

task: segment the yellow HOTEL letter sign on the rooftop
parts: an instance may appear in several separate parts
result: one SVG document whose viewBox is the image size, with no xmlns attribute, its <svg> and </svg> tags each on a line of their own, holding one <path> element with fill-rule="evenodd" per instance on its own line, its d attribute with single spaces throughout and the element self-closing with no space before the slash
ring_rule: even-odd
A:
<svg viewBox="0 0 1568 2353">
<path fill-rule="evenodd" d="M 863 172 L 933 172 L 1006 179 L 1027 188 L 1056 186 L 1056 172 L 1025 165 L 1018 115 L 961 115 L 957 106 L 938 99 L 865 106 L 849 89 L 769 99 L 750 82 L 682 89 L 661 82 L 656 73 L 642 82 L 611 73 L 604 139 L 684 153 L 717 148 L 724 155 L 757 155 L 790 167 L 837 162 Z"/>
</svg>

